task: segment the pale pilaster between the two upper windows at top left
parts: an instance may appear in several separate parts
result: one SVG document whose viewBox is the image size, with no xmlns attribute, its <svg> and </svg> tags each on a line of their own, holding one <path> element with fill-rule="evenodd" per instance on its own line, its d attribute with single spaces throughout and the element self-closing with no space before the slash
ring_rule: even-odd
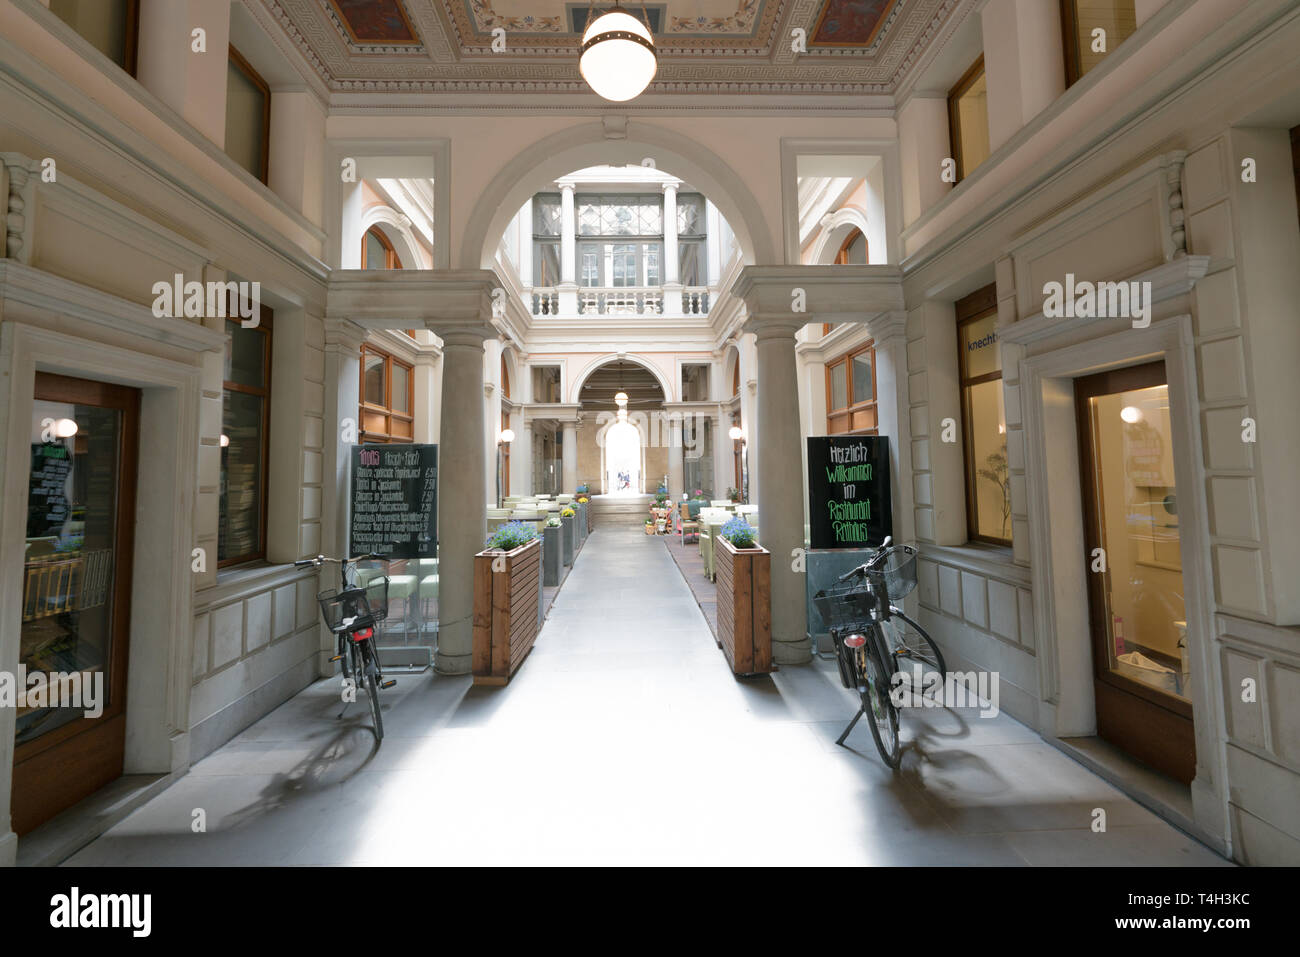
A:
<svg viewBox="0 0 1300 957">
<path fill-rule="evenodd" d="M 205 52 L 194 51 L 203 27 Z M 230 0 L 140 0 L 140 86 L 216 143 L 226 143 Z"/>
</svg>

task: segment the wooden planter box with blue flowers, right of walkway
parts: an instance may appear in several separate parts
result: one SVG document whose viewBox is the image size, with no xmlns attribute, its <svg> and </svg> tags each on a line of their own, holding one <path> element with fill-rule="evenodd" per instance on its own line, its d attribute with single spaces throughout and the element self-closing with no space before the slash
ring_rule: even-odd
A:
<svg viewBox="0 0 1300 957">
<path fill-rule="evenodd" d="M 772 671 L 772 554 L 714 542 L 718 645 L 736 675 Z"/>
</svg>

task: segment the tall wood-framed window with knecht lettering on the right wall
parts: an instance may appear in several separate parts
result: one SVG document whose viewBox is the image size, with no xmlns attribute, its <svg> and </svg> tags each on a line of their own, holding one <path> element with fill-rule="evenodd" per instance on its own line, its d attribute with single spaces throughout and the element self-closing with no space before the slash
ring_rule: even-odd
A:
<svg viewBox="0 0 1300 957">
<path fill-rule="evenodd" d="M 1011 486 L 992 285 L 957 303 L 957 364 L 966 452 L 966 532 L 971 541 L 1011 544 Z"/>
</svg>

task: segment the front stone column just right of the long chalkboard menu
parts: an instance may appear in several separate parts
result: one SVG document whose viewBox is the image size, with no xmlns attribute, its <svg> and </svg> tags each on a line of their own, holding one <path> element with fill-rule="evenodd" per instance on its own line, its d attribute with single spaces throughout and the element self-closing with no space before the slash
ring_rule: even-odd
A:
<svg viewBox="0 0 1300 957">
<path fill-rule="evenodd" d="M 484 484 L 484 339 L 494 330 L 439 329 L 442 423 L 438 445 L 438 653 L 434 670 L 468 675 L 473 646 L 474 554 L 488 532 Z"/>
</svg>

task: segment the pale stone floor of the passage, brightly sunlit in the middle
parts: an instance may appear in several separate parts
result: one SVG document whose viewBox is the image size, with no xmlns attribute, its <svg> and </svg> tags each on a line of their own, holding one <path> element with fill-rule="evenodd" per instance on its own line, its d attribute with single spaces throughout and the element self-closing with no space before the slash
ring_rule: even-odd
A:
<svg viewBox="0 0 1300 957">
<path fill-rule="evenodd" d="M 909 714 L 897 774 L 864 722 L 836 746 L 835 666 L 733 679 L 637 527 L 593 533 L 508 687 L 403 677 L 380 748 L 338 710 L 316 683 L 69 862 L 1226 863 L 1005 715 Z"/>
</svg>

